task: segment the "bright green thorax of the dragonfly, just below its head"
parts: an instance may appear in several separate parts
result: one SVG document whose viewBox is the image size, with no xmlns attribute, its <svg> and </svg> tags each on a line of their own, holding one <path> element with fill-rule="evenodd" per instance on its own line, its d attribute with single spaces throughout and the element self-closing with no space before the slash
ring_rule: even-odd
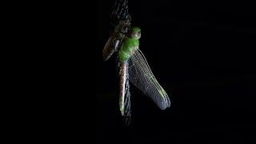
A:
<svg viewBox="0 0 256 144">
<path fill-rule="evenodd" d="M 119 51 L 119 60 L 121 62 L 127 61 L 130 56 L 132 56 L 134 52 L 138 50 L 138 45 L 139 42 L 137 38 L 125 38 Z"/>
</svg>

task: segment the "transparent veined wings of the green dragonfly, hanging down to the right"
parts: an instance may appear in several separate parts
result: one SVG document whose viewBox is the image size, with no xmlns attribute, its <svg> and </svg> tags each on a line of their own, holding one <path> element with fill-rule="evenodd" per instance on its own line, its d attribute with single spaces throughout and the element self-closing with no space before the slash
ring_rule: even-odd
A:
<svg viewBox="0 0 256 144">
<path fill-rule="evenodd" d="M 149 96 L 160 109 L 165 110 L 166 107 L 170 107 L 170 98 L 154 78 L 146 58 L 139 49 L 129 60 L 129 75 L 130 82 Z"/>
</svg>

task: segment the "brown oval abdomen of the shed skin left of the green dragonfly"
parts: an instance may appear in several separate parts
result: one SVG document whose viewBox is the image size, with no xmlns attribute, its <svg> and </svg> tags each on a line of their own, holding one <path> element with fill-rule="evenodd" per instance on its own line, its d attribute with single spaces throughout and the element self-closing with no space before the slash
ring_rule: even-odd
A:
<svg viewBox="0 0 256 144">
<path fill-rule="evenodd" d="M 119 45 L 119 40 L 112 36 L 106 41 L 106 44 L 102 50 L 102 57 L 104 61 L 107 61 Z"/>
</svg>

